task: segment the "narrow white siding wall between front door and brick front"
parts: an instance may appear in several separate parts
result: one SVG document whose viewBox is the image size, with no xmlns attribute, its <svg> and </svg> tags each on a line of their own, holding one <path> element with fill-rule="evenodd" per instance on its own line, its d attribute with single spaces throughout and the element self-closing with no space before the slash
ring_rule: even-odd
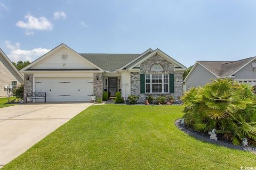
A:
<svg viewBox="0 0 256 170">
<path fill-rule="evenodd" d="M 131 94 L 131 73 L 130 72 L 122 72 L 121 86 L 122 86 L 122 97 L 127 99 L 128 95 Z"/>
</svg>

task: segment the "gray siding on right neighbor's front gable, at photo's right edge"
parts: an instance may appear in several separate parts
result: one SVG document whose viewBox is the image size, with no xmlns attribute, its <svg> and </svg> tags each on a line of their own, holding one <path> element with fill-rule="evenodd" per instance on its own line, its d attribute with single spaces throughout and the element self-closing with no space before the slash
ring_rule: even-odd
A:
<svg viewBox="0 0 256 170">
<path fill-rule="evenodd" d="M 250 62 L 246 66 L 243 67 L 243 69 L 239 70 L 237 73 L 235 73 L 235 79 L 236 80 L 243 80 L 243 79 L 253 79 L 256 80 L 256 68 L 255 71 L 253 71 L 252 63 L 256 60 Z"/>
</svg>

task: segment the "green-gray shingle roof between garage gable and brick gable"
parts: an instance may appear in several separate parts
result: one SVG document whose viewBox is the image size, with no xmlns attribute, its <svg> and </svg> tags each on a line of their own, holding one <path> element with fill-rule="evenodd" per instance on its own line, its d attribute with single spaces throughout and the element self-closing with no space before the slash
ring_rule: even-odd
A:
<svg viewBox="0 0 256 170">
<path fill-rule="evenodd" d="M 80 54 L 105 71 L 115 71 L 131 62 L 140 54 Z"/>
</svg>

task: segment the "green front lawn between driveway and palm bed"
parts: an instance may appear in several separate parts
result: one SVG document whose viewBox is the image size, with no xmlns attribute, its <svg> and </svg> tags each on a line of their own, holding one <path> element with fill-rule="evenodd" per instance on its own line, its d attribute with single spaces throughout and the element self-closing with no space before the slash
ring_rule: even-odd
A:
<svg viewBox="0 0 256 170">
<path fill-rule="evenodd" d="M 250 152 L 198 141 L 174 121 L 182 106 L 91 106 L 5 169 L 240 169 Z"/>
</svg>

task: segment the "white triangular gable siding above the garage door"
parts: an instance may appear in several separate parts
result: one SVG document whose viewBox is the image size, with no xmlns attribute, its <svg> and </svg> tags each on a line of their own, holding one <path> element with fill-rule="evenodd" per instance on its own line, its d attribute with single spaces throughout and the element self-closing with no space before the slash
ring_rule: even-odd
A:
<svg viewBox="0 0 256 170">
<path fill-rule="evenodd" d="M 61 56 L 67 54 L 67 60 L 62 60 Z M 86 62 L 82 56 L 65 47 L 46 56 L 30 69 L 96 69 L 93 65 Z"/>
</svg>

